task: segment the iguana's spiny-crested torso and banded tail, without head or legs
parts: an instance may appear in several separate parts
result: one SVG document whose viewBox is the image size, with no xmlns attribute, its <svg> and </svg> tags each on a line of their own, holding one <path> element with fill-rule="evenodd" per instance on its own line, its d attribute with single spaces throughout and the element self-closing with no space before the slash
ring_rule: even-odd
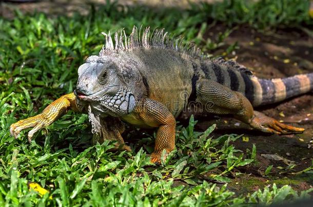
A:
<svg viewBox="0 0 313 207">
<path fill-rule="evenodd" d="M 128 50 L 120 48 L 123 41 L 115 35 L 118 44 L 115 43 L 115 47 L 109 50 L 120 51 L 122 59 L 132 59 L 136 63 L 148 97 L 166 105 L 175 117 L 188 100 L 197 99 L 197 82 L 205 79 L 238 91 L 253 106 L 280 102 L 313 88 L 313 74 L 259 79 L 236 61 L 209 59 L 194 45 L 183 45 L 180 38 L 168 38 L 163 30 L 156 30 L 150 35 L 149 28 L 146 28 L 142 35 L 140 33 L 134 27 L 129 42 L 125 43 Z M 113 45 L 110 41 L 109 37 L 108 45 Z M 106 50 L 103 50 L 104 54 Z"/>
</svg>

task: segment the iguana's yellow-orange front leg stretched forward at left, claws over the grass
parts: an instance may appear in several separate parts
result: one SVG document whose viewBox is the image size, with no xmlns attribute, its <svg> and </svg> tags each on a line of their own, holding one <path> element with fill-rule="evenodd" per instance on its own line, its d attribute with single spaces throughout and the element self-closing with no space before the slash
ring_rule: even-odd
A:
<svg viewBox="0 0 313 207">
<path fill-rule="evenodd" d="M 32 136 L 36 131 L 52 124 L 63 114 L 65 114 L 69 108 L 72 108 L 75 111 L 81 110 L 79 106 L 76 105 L 76 96 L 74 93 L 64 95 L 61 98 L 53 101 L 43 110 L 42 113 L 34 117 L 19 120 L 18 122 L 12 124 L 10 126 L 10 133 L 16 139 L 19 132 L 33 127 L 33 129 L 28 132 L 28 141 L 31 142 Z"/>
</svg>

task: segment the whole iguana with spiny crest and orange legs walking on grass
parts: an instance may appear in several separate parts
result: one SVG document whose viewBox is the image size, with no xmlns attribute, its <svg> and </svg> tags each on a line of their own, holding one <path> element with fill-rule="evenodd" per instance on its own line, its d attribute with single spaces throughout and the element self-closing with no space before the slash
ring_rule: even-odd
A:
<svg viewBox="0 0 313 207">
<path fill-rule="evenodd" d="M 210 112 L 233 114 L 238 120 L 264 132 L 302 132 L 254 111 L 252 106 L 271 104 L 313 89 L 313 74 L 259 79 L 246 67 L 221 58 L 209 59 L 181 39 L 168 38 L 163 30 L 150 35 L 149 28 L 110 33 L 99 56 L 90 56 L 78 69 L 74 93 L 52 102 L 37 116 L 11 125 L 17 137 L 33 127 L 33 134 L 61 117 L 68 109 L 89 114 L 93 143 L 116 140 L 116 148 L 130 150 L 121 133 L 123 122 L 158 128 L 151 162 L 160 162 L 165 149 L 175 147 L 175 117 L 197 101 L 210 103 Z"/>
</svg>

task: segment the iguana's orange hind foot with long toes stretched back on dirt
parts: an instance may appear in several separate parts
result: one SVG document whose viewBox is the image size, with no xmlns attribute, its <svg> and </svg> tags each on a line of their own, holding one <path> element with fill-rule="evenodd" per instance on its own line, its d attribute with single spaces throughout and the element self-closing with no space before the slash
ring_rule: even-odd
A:
<svg viewBox="0 0 313 207">
<path fill-rule="evenodd" d="M 250 126 L 263 132 L 276 134 L 302 133 L 304 131 L 304 128 L 280 123 L 259 111 L 254 111 L 254 117 L 250 122 Z"/>
</svg>

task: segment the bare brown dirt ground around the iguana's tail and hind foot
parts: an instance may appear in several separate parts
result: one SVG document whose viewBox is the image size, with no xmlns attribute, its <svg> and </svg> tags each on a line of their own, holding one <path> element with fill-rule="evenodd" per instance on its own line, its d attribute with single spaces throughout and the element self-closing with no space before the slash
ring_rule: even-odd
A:
<svg viewBox="0 0 313 207">
<path fill-rule="evenodd" d="M 93 2 L 101 3 L 102 1 L 95 0 Z M 125 4 L 133 4 L 148 1 L 124 2 Z M 153 5 L 155 2 L 166 6 L 168 1 L 152 1 L 150 4 Z M 176 2 L 182 3 L 181 1 Z M 82 11 L 82 13 L 88 12 L 82 7 L 82 4 L 84 4 L 84 1 L 79 0 L 42 1 L 41 3 L 21 5 L 2 3 L 0 12 L 8 18 L 13 17 L 13 10 L 16 7 L 24 12 L 39 10 L 52 14 L 55 12 L 70 14 L 75 10 Z M 214 26 L 207 32 L 205 37 L 213 39 L 216 34 L 225 30 L 226 27 L 223 25 Z M 214 51 L 214 54 L 222 54 L 228 45 L 238 42 L 240 48 L 228 58 L 237 58 L 240 64 L 250 68 L 259 77 L 277 78 L 313 72 L 313 38 L 303 31 L 289 29 L 259 33 L 248 26 L 241 26 L 234 30 L 225 42 L 226 45 L 222 49 Z M 293 169 L 295 172 L 311 165 L 313 144 L 310 147 L 309 142 L 313 139 L 313 95 L 303 95 L 280 104 L 257 108 L 257 110 L 262 111 L 269 117 L 303 127 L 306 130 L 303 134 L 279 136 L 250 130 L 247 125 L 230 117 L 219 117 L 210 114 L 204 117 L 195 116 L 195 119 L 199 120 L 198 130 L 205 130 L 208 126 L 216 123 L 218 128 L 213 133 L 215 137 L 225 133 L 244 134 L 244 136 L 249 137 L 249 140 L 244 142 L 240 139 L 235 142 L 234 145 L 238 149 L 245 152 L 247 148 L 252 149 L 253 144 L 257 146 L 258 164 L 239 169 L 240 172 L 245 173 L 245 176 L 236 178 L 228 185 L 228 188 L 236 192 L 247 193 L 263 188 L 273 182 L 279 186 L 289 184 L 297 190 L 312 188 L 312 174 L 292 175 L 293 171 L 285 172 L 280 169 L 287 166 L 282 160 L 272 160 L 264 157 L 264 154 L 279 155 L 294 162 L 296 164 Z M 184 124 L 184 121 L 182 123 Z M 186 123 L 187 121 L 185 121 Z M 269 174 L 269 177 L 265 177 L 264 171 L 269 165 L 273 165 L 272 173 Z"/>
</svg>

